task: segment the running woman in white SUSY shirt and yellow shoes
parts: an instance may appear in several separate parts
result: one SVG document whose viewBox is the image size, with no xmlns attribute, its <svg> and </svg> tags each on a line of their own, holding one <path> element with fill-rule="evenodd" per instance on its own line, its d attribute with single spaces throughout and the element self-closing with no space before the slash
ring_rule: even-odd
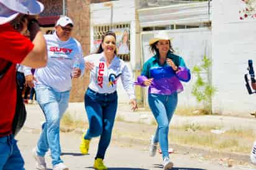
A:
<svg viewBox="0 0 256 170">
<path fill-rule="evenodd" d="M 85 109 L 89 129 L 83 134 L 80 151 L 88 154 L 89 142 L 100 136 L 94 168 L 107 169 L 103 159 L 111 140 L 112 127 L 117 110 L 117 81 L 120 78 L 130 98 L 132 110 L 137 109 L 134 95 L 134 79 L 127 65 L 116 56 L 116 35 L 107 32 L 103 35 L 96 54 L 85 57 L 85 66 L 91 71 L 89 87 L 85 94 Z"/>
</svg>

